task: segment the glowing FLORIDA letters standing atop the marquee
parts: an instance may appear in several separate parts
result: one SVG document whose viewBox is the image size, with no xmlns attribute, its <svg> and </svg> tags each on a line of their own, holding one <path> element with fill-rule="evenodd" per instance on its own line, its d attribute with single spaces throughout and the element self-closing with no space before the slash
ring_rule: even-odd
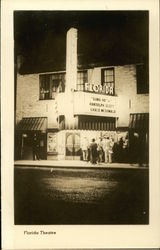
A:
<svg viewBox="0 0 160 250">
<path fill-rule="evenodd" d="M 103 86 L 99 84 L 85 83 L 85 91 L 95 92 L 99 94 L 114 95 L 114 84 L 105 83 Z"/>
</svg>

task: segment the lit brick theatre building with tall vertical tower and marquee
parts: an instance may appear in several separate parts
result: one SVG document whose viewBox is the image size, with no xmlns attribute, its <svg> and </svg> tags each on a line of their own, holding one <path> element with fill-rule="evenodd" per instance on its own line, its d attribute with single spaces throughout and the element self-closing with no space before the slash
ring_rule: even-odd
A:
<svg viewBox="0 0 160 250">
<path fill-rule="evenodd" d="M 66 69 L 17 73 L 16 159 L 32 159 L 39 138 L 41 159 L 80 159 L 84 138 L 138 134 L 147 161 L 149 95 L 144 65 L 92 66 L 78 69 L 77 29 L 66 37 Z"/>
</svg>

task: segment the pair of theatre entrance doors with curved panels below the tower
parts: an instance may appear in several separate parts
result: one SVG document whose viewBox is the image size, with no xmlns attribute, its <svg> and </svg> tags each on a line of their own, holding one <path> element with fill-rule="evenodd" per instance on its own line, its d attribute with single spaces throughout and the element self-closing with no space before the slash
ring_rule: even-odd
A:
<svg viewBox="0 0 160 250">
<path fill-rule="evenodd" d="M 80 160 L 80 134 L 79 133 L 66 133 L 66 159 L 67 160 Z"/>
</svg>

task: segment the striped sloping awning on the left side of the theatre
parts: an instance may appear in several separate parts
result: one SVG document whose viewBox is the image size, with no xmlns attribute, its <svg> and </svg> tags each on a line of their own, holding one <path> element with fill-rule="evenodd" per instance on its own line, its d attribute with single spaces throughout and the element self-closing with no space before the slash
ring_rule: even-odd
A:
<svg viewBox="0 0 160 250">
<path fill-rule="evenodd" d="M 20 131 L 46 132 L 46 129 L 47 117 L 24 117 L 17 126 Z"/>
</svg>

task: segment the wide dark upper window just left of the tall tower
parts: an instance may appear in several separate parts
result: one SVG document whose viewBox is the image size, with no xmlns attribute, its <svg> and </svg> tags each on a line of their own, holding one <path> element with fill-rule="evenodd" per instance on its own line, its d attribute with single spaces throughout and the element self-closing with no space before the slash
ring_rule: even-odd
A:
<svg viewBox="0 0 160 250">
<path fill-rule="evenodd" d="M 40 100 L 55 99 L 65 90 L 65 73 L 40 75 Z"/>
</svg>

